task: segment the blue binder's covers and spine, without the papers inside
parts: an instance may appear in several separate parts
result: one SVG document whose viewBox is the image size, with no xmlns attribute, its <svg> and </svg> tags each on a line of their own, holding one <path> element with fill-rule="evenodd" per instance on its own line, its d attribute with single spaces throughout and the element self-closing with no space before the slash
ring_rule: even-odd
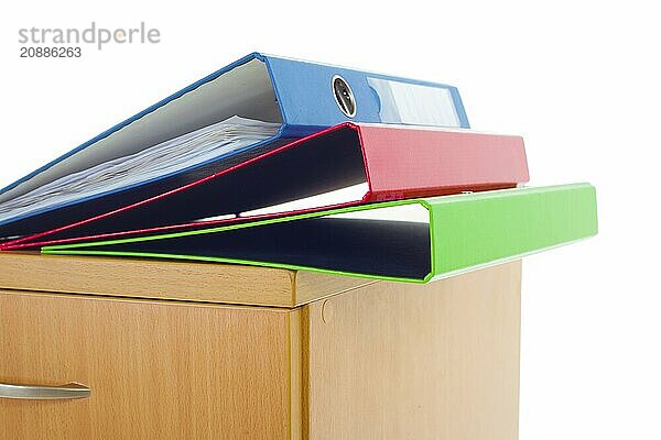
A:
<svg viewBox="0 0 661 440">
<path fill-rule="evenodd" d="M 455 87 L 253 53 L 1 189 L 0 205 L 68 174 L 232 116 L 281 125 L 271 138 L 176 173 L 0 220 L 0 241 L 144 200 L 347 120 L 469 128 Z"/>
</svg>

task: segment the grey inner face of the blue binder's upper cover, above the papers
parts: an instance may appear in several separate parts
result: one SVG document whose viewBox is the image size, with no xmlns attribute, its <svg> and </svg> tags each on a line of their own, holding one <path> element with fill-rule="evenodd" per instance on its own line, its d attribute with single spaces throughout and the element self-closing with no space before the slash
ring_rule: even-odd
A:
<svg viewBox="0 0 661 440">
<path fill-rule="evenodd" d="M 225 72 L 48 165 L 46 169 L 0 193 L 0 204 L 67 175 L 138 153 L 235 114 L 258 121 L 282 122 L 269 72 L 260 59 L 253 58 Z"/>
</svg>

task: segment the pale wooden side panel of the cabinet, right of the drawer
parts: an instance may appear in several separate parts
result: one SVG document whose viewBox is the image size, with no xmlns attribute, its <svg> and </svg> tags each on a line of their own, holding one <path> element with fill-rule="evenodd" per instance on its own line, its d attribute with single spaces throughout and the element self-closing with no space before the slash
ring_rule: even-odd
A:
<svg viewBox="0 0 661 440">
<path fill-rule="evenodd" d="M 520 262 L 307 306 L 310 439 L 513 440 Z"/>
</svg>

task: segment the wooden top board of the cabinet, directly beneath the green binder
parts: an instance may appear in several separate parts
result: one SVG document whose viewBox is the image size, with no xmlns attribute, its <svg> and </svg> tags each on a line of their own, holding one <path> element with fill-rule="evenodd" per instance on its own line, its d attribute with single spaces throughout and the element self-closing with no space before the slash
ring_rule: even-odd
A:
<svg viewBox="0 0 661 440">
<path fill-rule="evenodd" d="M 0 288 L 293 308 L 375 283 L 280 268 L 0 252 Z"/>
</svg>

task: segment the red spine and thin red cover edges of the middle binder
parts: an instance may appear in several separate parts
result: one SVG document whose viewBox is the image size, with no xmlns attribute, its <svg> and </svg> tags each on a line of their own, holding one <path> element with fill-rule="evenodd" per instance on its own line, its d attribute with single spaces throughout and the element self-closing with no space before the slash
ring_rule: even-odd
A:
<svg viewBox="0 0 661 440">
<path fill-rule="evenodd" d="M 242 166 L 272 154 L 278 154 L 283 150 L 302 145 L 315 138 L 343 128 L 356 130 L 358 133 L 369 188 L 362 200 L 239 219 L 172 224 L 59 240 L 40 240 L 185 191 L 209 179 L 221 177 Z M 407 147 L 401 147 L 401 145 L 407 145 Z M 528 180 L 525 148 L 520 136 L 476 133 L 467 130 L 420 129 L 345 122 L 145 200 L 48 231 L 0 243 L 0 251 L 34 249 L 43 245 L 113 239 L 185 228 L 210 227 L 237 221 L 254 221 L 375 201 L 513 188 L 518 184 Z"/>
</svg>

